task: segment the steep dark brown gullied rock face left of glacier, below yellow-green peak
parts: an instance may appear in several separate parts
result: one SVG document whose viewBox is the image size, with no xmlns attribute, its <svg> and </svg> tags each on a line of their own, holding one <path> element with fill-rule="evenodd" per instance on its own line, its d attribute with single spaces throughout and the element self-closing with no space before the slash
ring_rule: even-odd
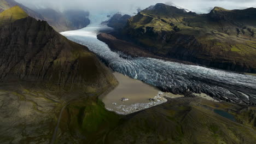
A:
<svg viewBox="0 0 256 144">
<path fill-rule="evenodd" d="M 97 57 L 32 17 L 0 28 L 0 79 L 47 86 L 103 88 L 114 78 Z"/>
</svg>

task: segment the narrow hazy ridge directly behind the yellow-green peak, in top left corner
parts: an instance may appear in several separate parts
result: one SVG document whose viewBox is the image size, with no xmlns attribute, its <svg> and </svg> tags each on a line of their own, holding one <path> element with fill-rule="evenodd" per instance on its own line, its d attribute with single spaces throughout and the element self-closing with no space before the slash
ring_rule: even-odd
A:
<svg viewBox="0 0 256 144">
<path fill-rule="evenodd" d="M 0 12 L 7 10 L 11 7 L 14 7 L 18 5 L 20 8 L 22 8 L 29 16 L 34 17 L 37 20 L 44 20 L 43 16 L 36 13 L 30 8 L 25 7 L 24 5 L 17 3 L 14 0 L 0 0 Z"/>
</svg>

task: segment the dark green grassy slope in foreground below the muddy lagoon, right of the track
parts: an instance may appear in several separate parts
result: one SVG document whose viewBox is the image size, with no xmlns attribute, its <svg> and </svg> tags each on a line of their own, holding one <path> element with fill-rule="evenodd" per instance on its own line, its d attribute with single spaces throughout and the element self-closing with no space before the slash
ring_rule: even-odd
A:
<svg viewBox="0 0 256 144">
<path fill-rule="evenodd" d="M 235 144 L 256 141 L 255 107 L 215 103 L 197 97 L 177 98 L 120 116 L 106 111 L 100 101 L 88 101 L 76 101 L 66 107 L 57 142 Z M 237 122 L 214 110 L 231 113 Z"/>
</svg>

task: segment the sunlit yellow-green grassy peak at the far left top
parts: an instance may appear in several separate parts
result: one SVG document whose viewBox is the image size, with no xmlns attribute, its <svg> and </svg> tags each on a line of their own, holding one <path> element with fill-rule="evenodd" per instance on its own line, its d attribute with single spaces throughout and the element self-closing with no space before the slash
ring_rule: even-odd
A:
<svg viewBox="0 0 256 144">
<path fill-rule="evenodd" d="M 19 6 L 15 6 L 0 13 L 0 24 L 3 25 L 4 23 L 14 22 L 27 16 L 23 9 Z"/>
</svg>

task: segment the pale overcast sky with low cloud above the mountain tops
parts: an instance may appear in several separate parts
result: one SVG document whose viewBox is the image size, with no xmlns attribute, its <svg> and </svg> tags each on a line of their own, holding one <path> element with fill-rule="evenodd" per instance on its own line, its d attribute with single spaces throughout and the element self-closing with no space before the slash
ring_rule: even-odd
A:
<svg viewBox="0 0 256 144">
<path fill-rule="evenodd" d="M 166 3 L 170 0 L 16 0 L 28 7 L 36 5 L 38 8 L 51 7 L 54 9 L 85 9 L 89 11 L 112 10 L 135 12 L 139 7 L 147 8 L 156 3 Z M 256 0 L 172 0 L 172 3 L 195 11 L 196 13 L 208 13 L 215 6 L 226 9 L 245 9 L 256 7 Z"/>
</svg>

